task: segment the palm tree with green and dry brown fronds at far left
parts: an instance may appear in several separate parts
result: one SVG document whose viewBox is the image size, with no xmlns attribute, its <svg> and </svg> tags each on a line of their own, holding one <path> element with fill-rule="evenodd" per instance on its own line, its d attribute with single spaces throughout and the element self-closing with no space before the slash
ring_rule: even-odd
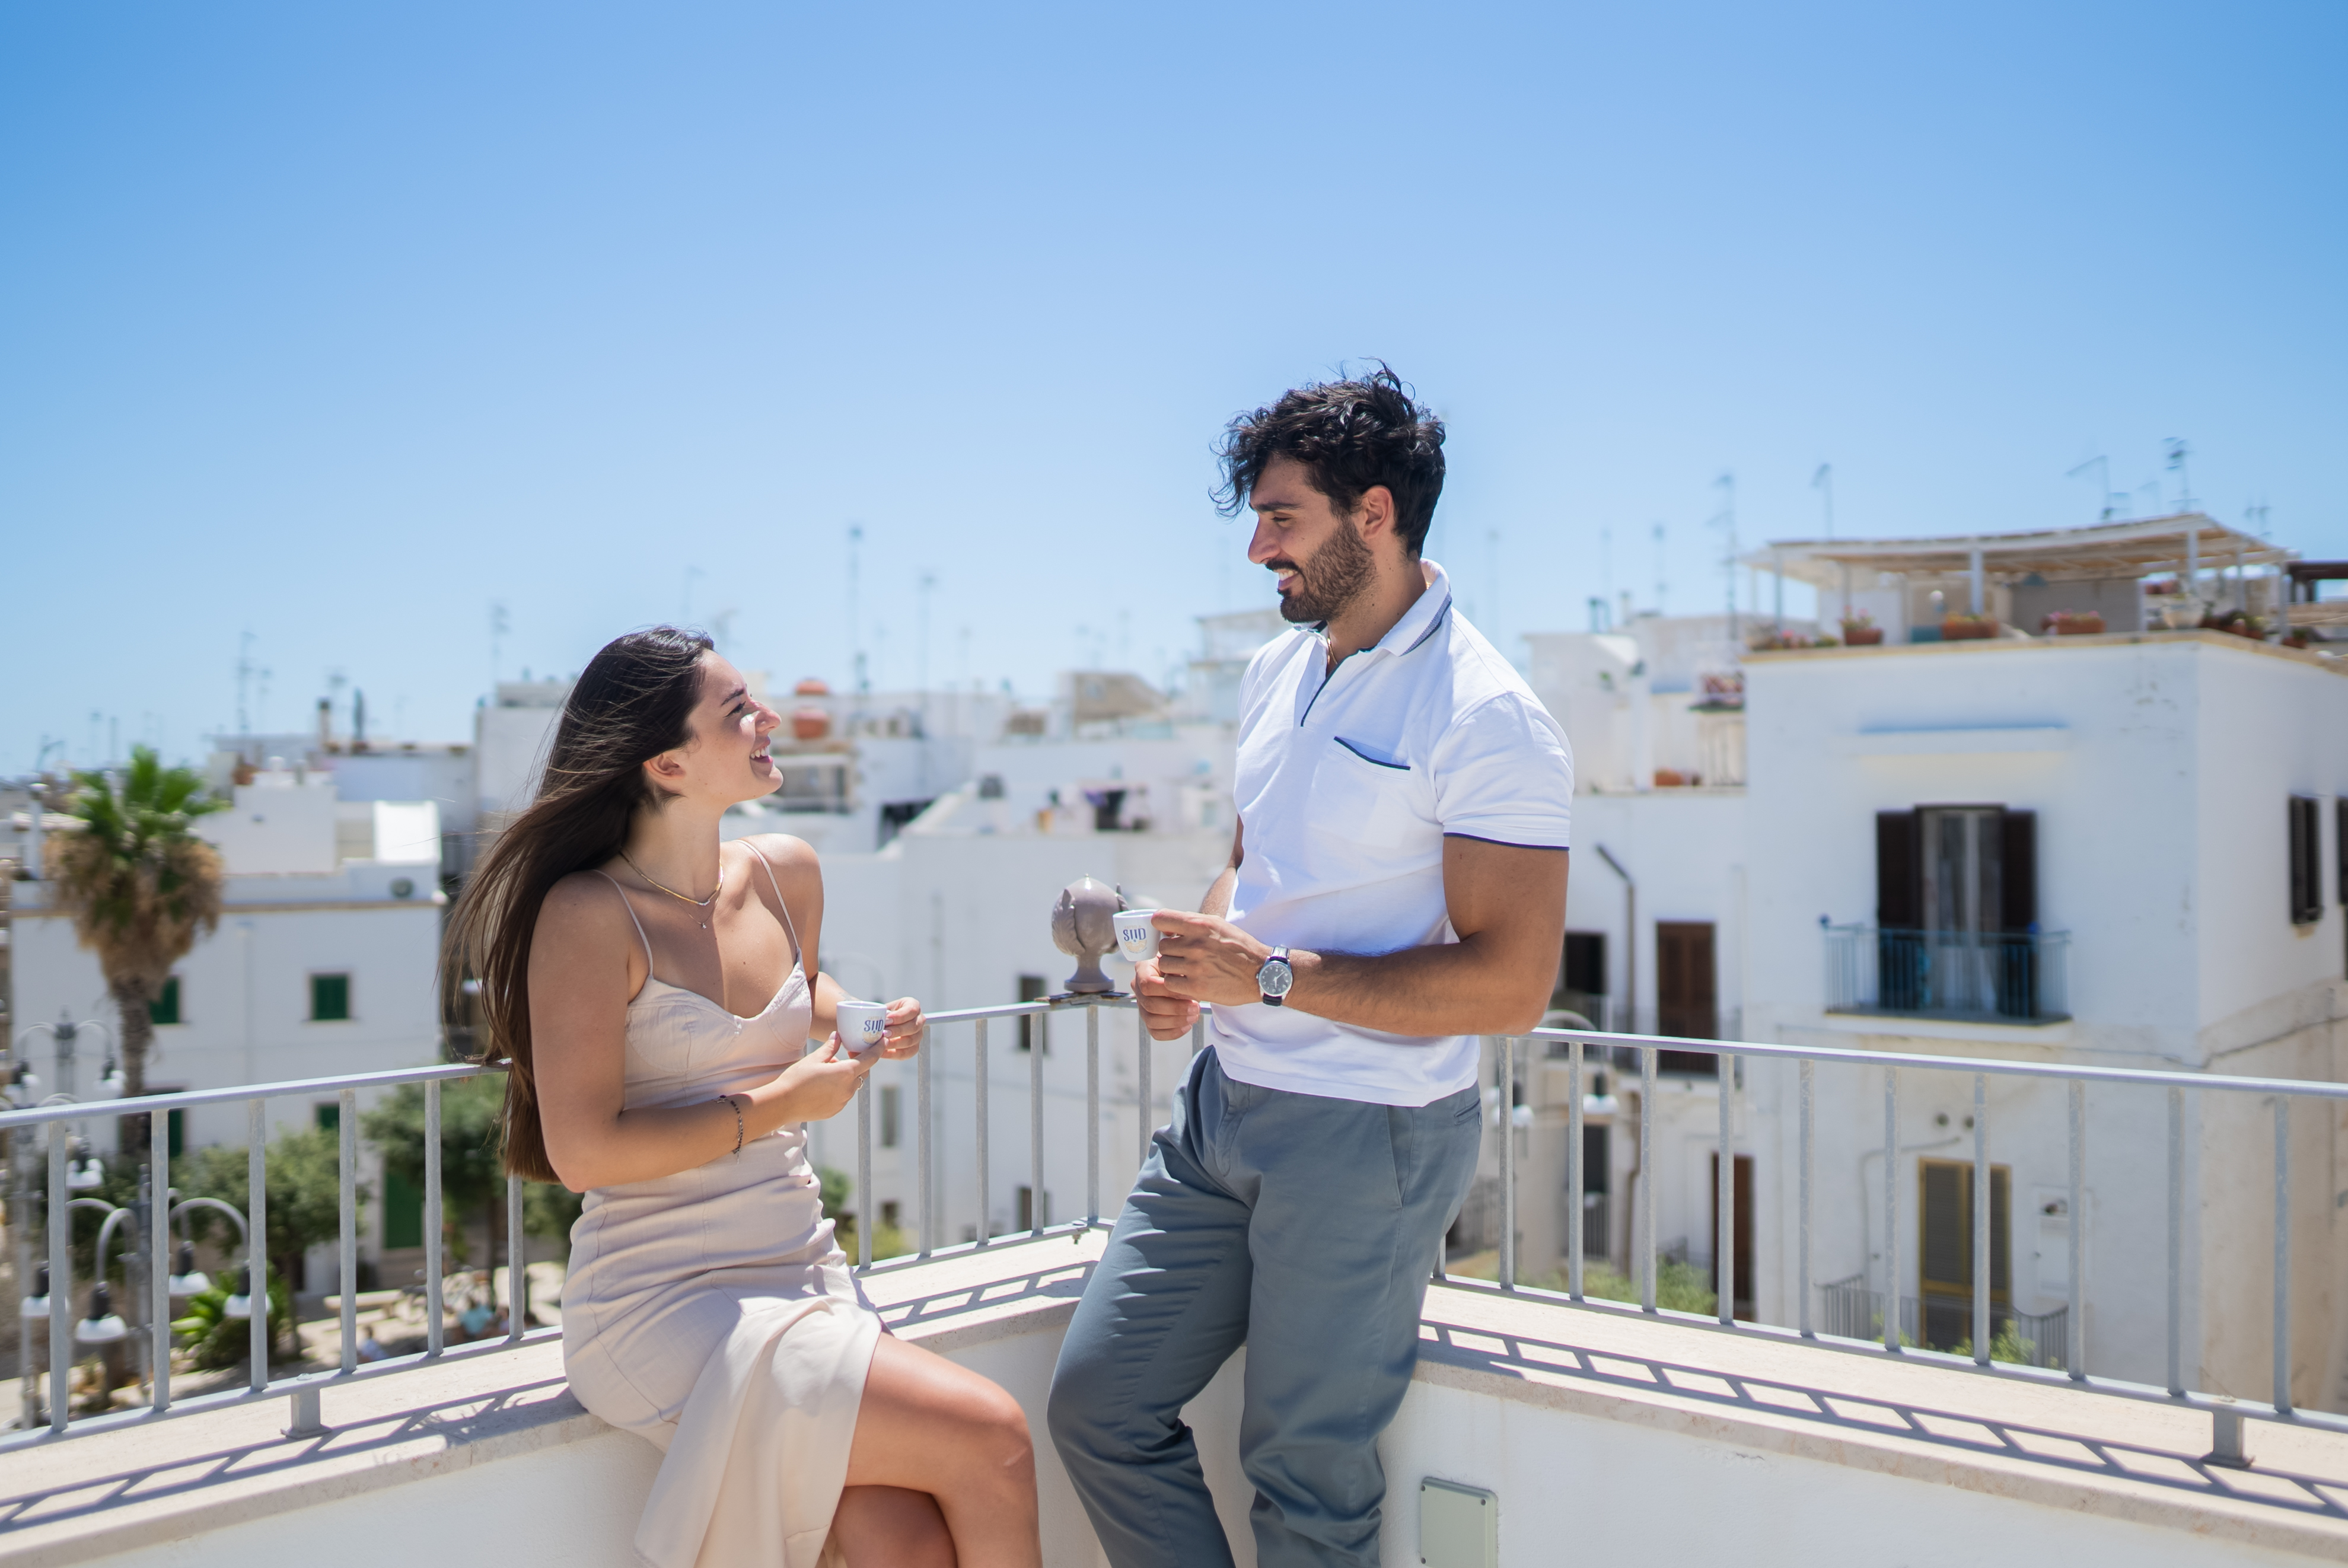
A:
<svg viewBox="0 0 2348 1568">
<path fill-rule="evenodd" d="M 148 1009 L 171 965 L 221 925 L 221 852 L 190 824 L 228 803 L 204 793 L 193 768 L 164 768 L 150 746 L 131 746 L 120 789 L 103 772 L 75 772 L 73 784 L 66 810 L 82 826 L 49 840 L 47 876 L 122 1014 L 124 1094 L 146 1094 Z"/>
</svg>

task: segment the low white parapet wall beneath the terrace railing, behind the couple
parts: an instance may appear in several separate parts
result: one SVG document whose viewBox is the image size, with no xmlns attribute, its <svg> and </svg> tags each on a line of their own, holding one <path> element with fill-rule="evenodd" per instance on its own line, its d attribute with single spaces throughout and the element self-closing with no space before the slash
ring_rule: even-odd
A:
<svg viewBox="0 0 2348 1568">
<path fill-rule="evenodd" d="M 1099 1237 L 871 1277 L 909 1340 L 1043 1401 Z M 1244 1357 L 1193 1404 L 1235 1559 Z M 657 1453 L 578 1408 L 552 1343 L 326 1390 L 329 1437 L 286 1401 L 16 1453 L 0 1563 L 411 1568 L 420 1552 L 634 1568 Z M 2252 1427 L 2256 1467 L 2200 1462 L 2205 1415 L 1625 1312 L 1437 1289 L 1418 1378 L 1381 1453 L 1385 1563 L 1416 1563 L 1425 1476 L 1496 1493 L 1500 1563 L 2348 1561 L 2348 1439 Z M 1045 1561 L 1101 1563 L 1050 1444 Z"/>
</svg>

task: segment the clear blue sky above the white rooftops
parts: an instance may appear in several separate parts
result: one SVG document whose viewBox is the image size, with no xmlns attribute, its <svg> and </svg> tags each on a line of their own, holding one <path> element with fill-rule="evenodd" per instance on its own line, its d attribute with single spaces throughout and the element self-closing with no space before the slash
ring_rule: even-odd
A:
<svg viewBox="0 0 2348 1568">
<path fill-rule="evenodd" d="M 1158 676 L 1268 603 L 1219 427 L 1364 357 L 1503 646 L 1716 606 L 1721 472 L 1747 545 L 1820 462 L 1846 533 L 2024 528 L 2184 437 L 2348 556 L 2343 56 L 2322 5 L 9 7 L 0 772 L 195 753 L 242 634 L 256 721 L 343 676 L 463 739 L 491 603 L 507 678 L 730 613 L 845 681 L 850 523 L 880 685 L 925 620 L 937 681 Z"/>
</svg>

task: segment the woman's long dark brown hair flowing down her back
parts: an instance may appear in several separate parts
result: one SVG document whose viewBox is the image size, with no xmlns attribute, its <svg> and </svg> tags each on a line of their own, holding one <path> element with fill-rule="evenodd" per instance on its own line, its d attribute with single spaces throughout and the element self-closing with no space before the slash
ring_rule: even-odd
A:
<svg viewBox="0 0 2348 1568">
<path fill-rule="evenodd" d="M 505 1113 L 498 1117 L 505 1169 L 526 1181 L 561 1181 L 538 1122 L 531 1061 L 531 939 L 554 883 L 601 866 L 627 843 L 639 805 L 657 805 L 643 765 L 690 739 L 702 690 L 697 631 L 653 627 L 603 643 L 564 702 L 538 798 L 498 833 L 448 913 L 441 939 L 441 1019 L 467 1023 L 465 981 L 481 984 L 477 1061 L 505 1056 Z M 460 1035 L 458 1035 L 460 1038 Z"/>
</svg>

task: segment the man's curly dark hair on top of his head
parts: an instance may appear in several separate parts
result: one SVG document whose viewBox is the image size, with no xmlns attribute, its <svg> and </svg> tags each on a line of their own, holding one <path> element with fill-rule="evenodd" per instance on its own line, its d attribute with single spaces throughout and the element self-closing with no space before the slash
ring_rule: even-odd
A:
<svg viewBox="0 0 2348 1568">
<path fill-rule="evenodd" d="M 1242 413 L 1223 432 L 1223 516 L 1237 516 L 1273 458 L 1305 465 L 1313 488 L 1345 514 L 1383 484 L 1395 498 L 1395 538 L 1416 559 L 1444 493 L 1444 423 L 1411 397 L 1385 361 L 1369 376 L 1287 392 Z"/>
</svg>

